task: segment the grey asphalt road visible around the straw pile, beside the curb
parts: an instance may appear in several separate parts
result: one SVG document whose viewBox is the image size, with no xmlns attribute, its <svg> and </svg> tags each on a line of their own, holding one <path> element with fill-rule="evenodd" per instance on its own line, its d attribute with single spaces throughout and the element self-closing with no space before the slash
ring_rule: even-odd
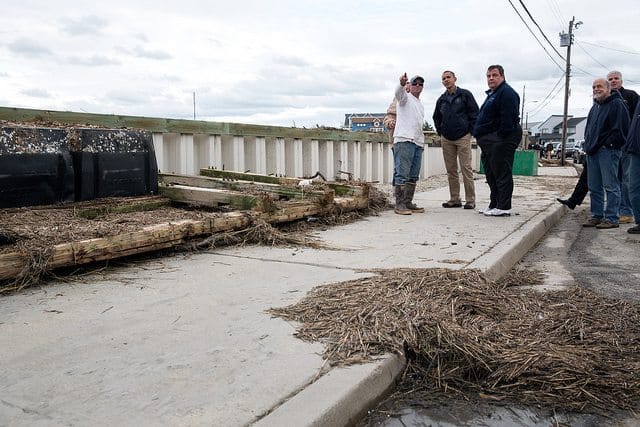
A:
<svg viewBox="0 0 640 427">
<path fill-rule="evenodd" d="M 640 300 L 640 235 L 627 233 L 632 225 L 618 229 L 584 228 L 589 206 L 582 205 L 556 224 L 518 267 L 544 273 L 541 287 L 559 290 L 578 283 L 609 297 Z M 594 415 L 557 414 L 545 408 L 496 407 L 452 401 L 433 408 L 402 407 L 384 402 L 366 426 L 550 426 L 572 427 L 638 426 L 640 416 L 620 412 L 614 418 Z M 380 407 L 382 408 L 382 407 Z M 380 409 L 379 408 L 379 409 Z M 391 409 L 390 409 L 391 408 Z"/>
</svg>

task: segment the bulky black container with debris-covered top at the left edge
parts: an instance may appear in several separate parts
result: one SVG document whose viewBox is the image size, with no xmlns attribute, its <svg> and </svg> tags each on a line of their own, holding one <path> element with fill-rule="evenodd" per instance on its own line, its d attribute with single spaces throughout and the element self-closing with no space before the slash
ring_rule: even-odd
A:
<svg viewBox="0 0 640 427">
<path fill-rule="evenodd" d="M 0 128 L 0 208 L 157 192 L 148 131 Z"/>
</svg>

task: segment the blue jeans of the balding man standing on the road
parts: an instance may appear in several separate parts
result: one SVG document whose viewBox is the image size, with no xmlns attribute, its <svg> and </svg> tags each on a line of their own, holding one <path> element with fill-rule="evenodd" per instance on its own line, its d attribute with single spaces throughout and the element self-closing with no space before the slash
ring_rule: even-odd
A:
<svg viewBox="0 0 640 427">
<path fill-rule="evenodd" d="M 604 218 L 614 224 L 618 223 L 620 209 L 618 167 L 621 155 L 620 150 L 606 147 L 601 147 L 595 154 L 587 155 L 592 218 Z"/>
</svg>

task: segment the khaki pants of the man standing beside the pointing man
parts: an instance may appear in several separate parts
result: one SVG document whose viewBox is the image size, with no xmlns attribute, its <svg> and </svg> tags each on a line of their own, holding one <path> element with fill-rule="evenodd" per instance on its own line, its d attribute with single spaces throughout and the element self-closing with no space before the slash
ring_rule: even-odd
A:
<svg viewBox="0 0 640 427">
<path fill-rule="evenodd" d="M 471 134 L 468 133 L 455 141 L 442 137 L 442 156 L 444 157 L 444 166 L 447 168 L 447 177 L 449 178 L 449 201 L 454 203 L 461 202 L 459 161 L 464 181 L 465 202 L 475 205 L 476 187 L 473 182 L 473 169 L 471 168 Z"/>
</svg>

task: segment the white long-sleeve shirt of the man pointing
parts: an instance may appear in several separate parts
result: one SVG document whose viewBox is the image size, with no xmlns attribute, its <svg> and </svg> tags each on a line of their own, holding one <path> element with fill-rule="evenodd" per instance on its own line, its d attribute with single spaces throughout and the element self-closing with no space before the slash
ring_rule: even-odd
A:
<svg viewBox="0 0 640 427">
<path fill-rule="evenodd" d="M 393 130 L 393 142 L 411 141 L 424 147 L 424 106 L 420 99 L 407 93 L 404 86 L 396 89 L 396 127 Z"/>
</svg>

